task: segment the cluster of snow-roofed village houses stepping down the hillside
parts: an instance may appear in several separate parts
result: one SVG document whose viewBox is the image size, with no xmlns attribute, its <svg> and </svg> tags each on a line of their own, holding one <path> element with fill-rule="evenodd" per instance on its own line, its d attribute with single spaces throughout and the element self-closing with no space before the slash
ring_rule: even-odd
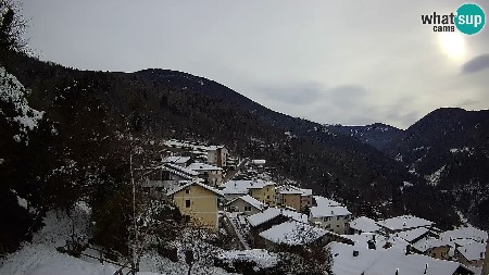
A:
<svg viewBox="0 0 489 275">
<path fill-rule="evenodd" d="M 165 190 L 199 226 L 236 235 L 243 249 L 327 246 L 336 275 L 464 275 L 489 268 L 486 232 L 474 227 L 441 232 L 432 222 L 412 215 L 354 217 L 340 202 L 311 189 L 279 185 L 255 177 L 256 173 L 247 178 L 236 171 L 241 166 L 264 171 L 265 161 L 260 160 L 259 166 L 250 160 L 239 163 L 225 146 L 168 143 L 191 154 L 162 158 L 161 173 L 148 186 Z M 225 180 L 226 173 L 236 174 Z"/>
</svg>

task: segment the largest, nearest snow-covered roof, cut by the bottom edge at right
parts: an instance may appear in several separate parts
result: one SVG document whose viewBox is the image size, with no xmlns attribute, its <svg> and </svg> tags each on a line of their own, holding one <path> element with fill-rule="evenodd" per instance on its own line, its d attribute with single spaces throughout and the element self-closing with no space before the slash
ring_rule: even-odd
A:
<svg viewBox="0 0 489 275">
<path fill-rule="evenodd" d="M 402 251 L 392 249 L 368 250 L 340 242 L 330 242 L 328 246 L 334 255 L 333 273 L 335 275 L 393 275 L 397 270 L 400 275 L 450 275 L 461 267 L 465 268 L 456 262 L 421 254 L 406 255 Z M 354 250 L 359 253 L 356 257 L 353 255 Z"/>
</svg>

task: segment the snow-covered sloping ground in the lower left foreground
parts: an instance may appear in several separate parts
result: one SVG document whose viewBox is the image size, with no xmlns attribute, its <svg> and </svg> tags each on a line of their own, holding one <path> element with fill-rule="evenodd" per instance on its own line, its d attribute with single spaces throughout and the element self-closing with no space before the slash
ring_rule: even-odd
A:
<svg viewBox="0 0 489 275">
<path fill-rule="evenodd" d="M 80 238 L 87 237 L 89 209 L 79 203 L 75 210 L 73 222 L 61 212 L 51 211 L 45 217 L 45 224 L 21 249 L 4 259 L 0 259 L 0 275 L 112 275 L 117 266 L 101 264 L 91 259 L 89 262 L 57 251 L 70 239 L 72 224 Z M 227 275 L 222 268 L 205 266 L 193 267 L 192 274 Z M 138 275 L 180 275 L 187 274 L 185 262 L 174 263 L 156 253 L 142 257 Z"/>
</svg>

